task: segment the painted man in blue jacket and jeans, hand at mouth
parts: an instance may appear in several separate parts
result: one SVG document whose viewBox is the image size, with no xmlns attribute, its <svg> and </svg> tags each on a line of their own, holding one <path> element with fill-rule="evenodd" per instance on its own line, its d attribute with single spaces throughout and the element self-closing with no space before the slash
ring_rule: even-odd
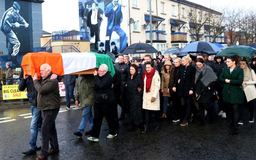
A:
<svg viewBox="0 0 256 160">
<path fill-rule="evenodd" d="M 118 3 L 119 0 L 112 0 L 105 10 L 105 16 L 107 17 L 107 32 L 106 36 L 109 36 L 109 41 L 106 41 L 106 50 L 109 49 L 109 42 L 111 39 L 112 32 L 115 31 L 120 37 L 120 51 L 125 50 L 126 46 L 126 33 L 120 27 L 123 21 L 123 14 L 121 11 L 122 5 Z"/>
</svg>

